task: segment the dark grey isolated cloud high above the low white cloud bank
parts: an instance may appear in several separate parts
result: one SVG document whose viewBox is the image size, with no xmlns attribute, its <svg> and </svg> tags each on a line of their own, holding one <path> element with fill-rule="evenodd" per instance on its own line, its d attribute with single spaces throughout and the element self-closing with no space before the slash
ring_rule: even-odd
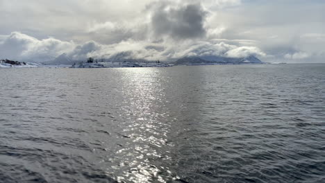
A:
<svg viewBox="0 0 325 183">
<path fill-rule="evenodd" d="M 157 36 L 167 35 L 174 39 L 204 37 L 203 27 L 207 12 L 201 4 L 188 4 L 170 7 L 163 3 L 156 6 L 151 17 L 153 33 Z"/>
</svg>

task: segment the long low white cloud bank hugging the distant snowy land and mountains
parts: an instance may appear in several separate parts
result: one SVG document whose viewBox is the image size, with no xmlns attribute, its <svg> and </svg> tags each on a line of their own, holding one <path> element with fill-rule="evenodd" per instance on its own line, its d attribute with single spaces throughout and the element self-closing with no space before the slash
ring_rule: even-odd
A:
<svg viewBox="0 0 325 183">
<path fill-rule="evenodd" d="M 88 57 L 108 58 L 112 60 L 176 60 L 185 56 L 227 56 L 246 57 L 264 56 L 265 53 L 254 46 L 237 46 L 217 40 L 197 41 L 161 40 L 125 40 L 115 44 L 100 44 L 90 41 L 84 44 L 64 42 L 54 38 L 38 40 L 22 33 L 8 35 L 0 44 L 0 54 L 8 59 L 46 62 L 66 53 L 73 60 L 85 60 Z"/>
</svg>

